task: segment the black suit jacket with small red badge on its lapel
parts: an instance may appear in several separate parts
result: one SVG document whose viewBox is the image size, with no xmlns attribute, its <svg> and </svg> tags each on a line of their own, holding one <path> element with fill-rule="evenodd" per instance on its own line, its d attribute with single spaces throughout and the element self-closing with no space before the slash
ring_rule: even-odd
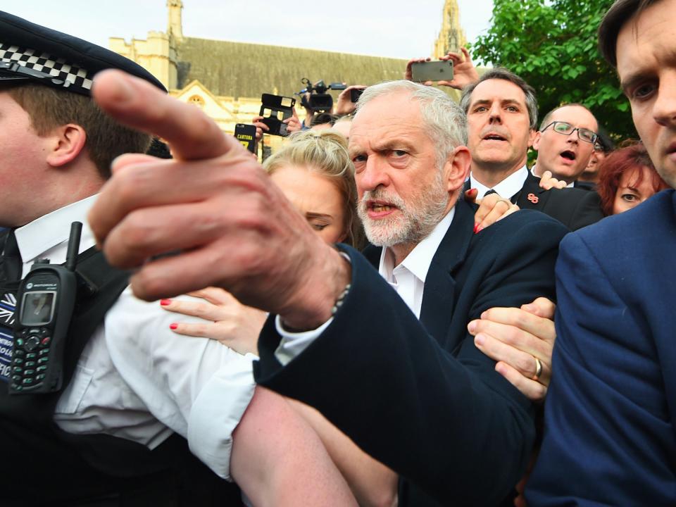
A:
<svg viewBox="0 0 676 507">
<path fill-rule="evenodd" d="M 545 190 L 540 187 L 539 177 L 533 176 L 530 171 L 521 191 L 512 197 L 512 202 L 521 209 L 542 211 L 570 230 L 578 230 L 603 218 L 601 198 L 596 192 L 577 188 Z"/>
</svg>

